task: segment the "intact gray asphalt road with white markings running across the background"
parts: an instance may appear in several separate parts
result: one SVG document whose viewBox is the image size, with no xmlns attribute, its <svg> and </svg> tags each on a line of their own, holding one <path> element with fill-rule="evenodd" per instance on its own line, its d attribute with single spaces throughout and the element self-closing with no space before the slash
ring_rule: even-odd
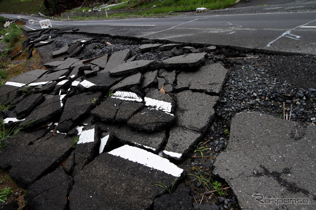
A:
<svg viewBox="0 0 316 210">
<path fill-rule="evenodd" d="M 134 36 L 316 55 L 316 12 L 203 14 L 90 21 L 51 20 L 51 24 L 56 29 L 72 26 L 79 28 L 80 32 L 90 34 Z M 40 24 L 37 22 L 26 25 L 24 29 L 39 30 Z"/>
</svg>

